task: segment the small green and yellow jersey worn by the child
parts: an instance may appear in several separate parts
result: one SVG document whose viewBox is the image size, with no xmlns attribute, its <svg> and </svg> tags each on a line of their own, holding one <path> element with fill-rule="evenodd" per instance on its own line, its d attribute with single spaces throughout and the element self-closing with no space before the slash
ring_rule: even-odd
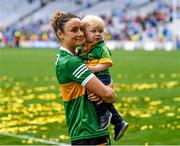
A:
<svg viewBox="0 0 180 146">
<path fill-rule="evenodd" d="M 83 61 L 90 66 L 97 65 L 99 63 L 110 63 L 112 64 L 111 60 L 111 52 L 109 49 L 105 46 L 105 42 L 101 41 L 97 43 L 91 50 L 87 50 L 79 55 Z M 105 69 L 100 72 L 96 72 L 95 75 L 101 76 L 101 75 L 110 75 L 109 69 Z"/>
</svg>

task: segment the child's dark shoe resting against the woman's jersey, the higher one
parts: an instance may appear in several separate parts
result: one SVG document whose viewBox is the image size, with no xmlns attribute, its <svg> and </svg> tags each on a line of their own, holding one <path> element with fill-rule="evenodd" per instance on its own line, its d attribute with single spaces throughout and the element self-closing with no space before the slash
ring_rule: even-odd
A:
<svg viewBox="0 0 180 146">
<path fill-rule="evenodd" d="M 106 113 L 103 116 L 99 117 L 99 125 L 101 130 L 106 129 L 109 126 L 111 118 L 112 113 L 110 113 L 109 111 L 106 111 Z"/>
</svg>

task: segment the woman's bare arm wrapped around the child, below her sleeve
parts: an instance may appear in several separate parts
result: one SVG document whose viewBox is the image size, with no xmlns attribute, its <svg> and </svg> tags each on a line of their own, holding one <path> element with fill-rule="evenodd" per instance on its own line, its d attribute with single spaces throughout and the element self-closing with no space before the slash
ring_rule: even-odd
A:
<svg viewBox="0 0 180 146">
<path fill-rule="evenodd" d="M 115 102 L 114 90 L 111 87 L 104 85 L 97 77 L 93 77 L 91 80 L 89 80 L 85 85 L 85 87 L 89 91 L 102 97 L 104 102 L 106 103 Z"/>
</svg>

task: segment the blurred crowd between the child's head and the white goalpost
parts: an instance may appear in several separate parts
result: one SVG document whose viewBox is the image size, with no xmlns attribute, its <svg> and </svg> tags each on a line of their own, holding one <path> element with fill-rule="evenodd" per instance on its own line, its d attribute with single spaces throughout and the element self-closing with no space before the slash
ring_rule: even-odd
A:
<svg viewBox="0 0 180 146">
<path fill-rule="evenodd" d="M 168 24 L 172 22 L 172 6 L 159 2 L 157 9 L 143 16 L 127 15 L 127 9 L 112 14 L 110 18 L 103 16 L 110 31 L 112 40 L 129 41 L 170 41 L 172 32 Z M 115 19 L 116 21 L 113 21 Z M 116 28 L 116 24 L 119 23 Z"/>
</svg>

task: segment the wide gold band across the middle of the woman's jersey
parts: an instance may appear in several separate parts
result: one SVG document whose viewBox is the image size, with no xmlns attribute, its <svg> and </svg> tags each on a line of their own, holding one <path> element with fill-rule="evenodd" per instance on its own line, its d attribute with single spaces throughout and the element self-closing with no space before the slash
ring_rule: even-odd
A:
<svg viewBox="0 0 180 146">
<path fill-rule="evenodd" d="M 82 87 L 77 82 L 70 82 L 60 85 L 60 91 L 63 97 L 63 100 L 69 102 L 70 100 L 76 99 L 79 96 L 85 94 L 85 87 Z"/>
</svg>

